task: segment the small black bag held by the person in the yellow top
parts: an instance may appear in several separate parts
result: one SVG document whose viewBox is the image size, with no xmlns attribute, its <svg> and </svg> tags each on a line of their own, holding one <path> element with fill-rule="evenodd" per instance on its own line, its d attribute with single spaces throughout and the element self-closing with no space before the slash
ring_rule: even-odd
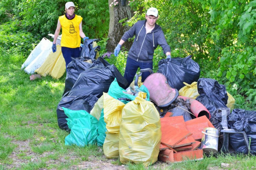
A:
<svg viewBox="0 0 256 170">
<path fill-rule="evenodd" d="M 96 54 L 100 51 L 100 46 L 92 47 L 93 41 L 98 41 L 99 39 L 86 39 L 84 41 L 84 45 L 82 51 L 80 53 L 80 57 L 89 57 L 91 59 L 96 58 Z"/>
</svg>

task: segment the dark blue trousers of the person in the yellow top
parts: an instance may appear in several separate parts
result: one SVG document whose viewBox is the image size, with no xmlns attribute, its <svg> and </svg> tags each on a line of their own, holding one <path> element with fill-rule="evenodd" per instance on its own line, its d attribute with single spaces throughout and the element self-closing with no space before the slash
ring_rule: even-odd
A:
<svg viewBox="0 0 256 170">
<path fill-rule="evenodd" d="M 62 52 L 62 55 L 65 59 L 66 70 L 67 70 L 68 63 L 70 63 L 72 61 L 71 57 L 73 57 L 73 58 L 80 57 L 81 48 L 80 47 L 68 48 L 68 47 L 62 46 L 61 47 L 61 52 Z"/>
</svg>

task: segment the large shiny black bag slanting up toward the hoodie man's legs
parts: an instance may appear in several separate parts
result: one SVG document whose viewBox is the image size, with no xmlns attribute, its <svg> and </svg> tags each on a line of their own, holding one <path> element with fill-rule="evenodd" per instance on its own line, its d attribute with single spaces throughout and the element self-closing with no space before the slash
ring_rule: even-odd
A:
<svg viewBox="0 0 256 170">
<path fill-rule="evenodd" d="M 110 84 L 115 79 L 115 66 L 95 66 L 82 72 L 76 80 L 68 96 L 94 95 L 98 98 L 107 93 Z"/>
</svg>

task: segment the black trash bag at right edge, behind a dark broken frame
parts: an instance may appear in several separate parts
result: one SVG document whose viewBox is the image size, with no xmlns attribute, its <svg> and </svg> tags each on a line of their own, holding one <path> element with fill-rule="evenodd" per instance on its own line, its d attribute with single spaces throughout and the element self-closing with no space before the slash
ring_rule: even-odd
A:
<svg viewBox="0 0 256 170">
<path fill-rule="evenodd" d="M 235 131 L 245 131 L 250 143 L 250 153 L 256 155 L 256 111 L 234 109 L 228 116 L 228 125 Z M 229 143 L 238 153 L 249 152 L 242 134 L 229 134 Z"/>
</svg>

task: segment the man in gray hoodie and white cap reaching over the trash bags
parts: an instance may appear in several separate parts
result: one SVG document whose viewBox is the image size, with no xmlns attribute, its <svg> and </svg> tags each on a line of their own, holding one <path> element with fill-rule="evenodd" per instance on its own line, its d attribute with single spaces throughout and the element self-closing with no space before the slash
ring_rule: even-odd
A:
<svg viewBox="0 0 256 170">
<path fill-rule="evenodd" d="M 128 53 L 124 71 L 124 78 L 128 81 L 128 86 L 133 81 L 139 67 L 140 69 L 153 69 L 154 50 L 158 45 L 163 48 L 167 58 L 171 58 L 171 48 L 166 42 L 164 32 L 162 28 L 156 24 L 156 20 L 158 19 L 157 9 L 149 8 L 145 18 L 146 20 L 136 22 L 132 28 L 124 33 L 114 50 L 114 54 L 117 56 L 124 42 L 135 35 L 132 47 Z M 149 72 L 143 72 L 141 81 L 143 82 L 148 75 L 150 75 Z"/>
</svg>

